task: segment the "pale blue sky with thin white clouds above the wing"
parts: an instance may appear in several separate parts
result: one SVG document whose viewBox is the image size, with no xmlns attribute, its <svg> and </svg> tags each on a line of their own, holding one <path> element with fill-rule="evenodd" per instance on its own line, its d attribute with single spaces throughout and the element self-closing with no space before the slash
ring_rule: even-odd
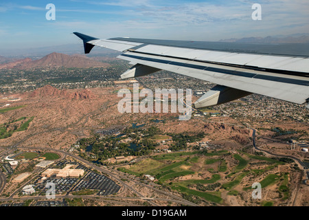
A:
<svg viewBox="0 0 309 220">
<path fill-rule="evenodd" d="M 47 20 L 55 5 L 55 20 Z M 253 20 L 254 3 L 262 20 Z M 73 32 L 107 39 L 219 41 L 309 33 L 308 0 L 0 1 L 1 50 L 78 43 Z"/>
</svg>

